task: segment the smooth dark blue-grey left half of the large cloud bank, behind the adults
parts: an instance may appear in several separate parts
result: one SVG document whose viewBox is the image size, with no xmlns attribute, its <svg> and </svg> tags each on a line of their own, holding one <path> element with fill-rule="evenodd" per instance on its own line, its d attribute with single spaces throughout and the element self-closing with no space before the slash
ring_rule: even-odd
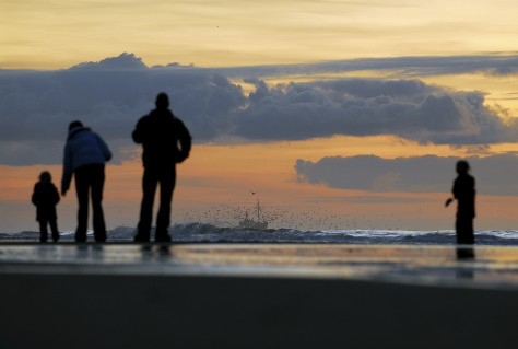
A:
<svg viewBox="0 0 518 349">
<path fill-rule="evenodd" d="M 158 92 L 169 94 L 174 113 L 197 141 L 227 135 L 229 118 L 245 102 L 240 86 L 219 73 L 181 66 L 151 69 L 131 54 L 58 71 L 0 70 L 0 142 L 23 144 L 0 147 L 0 163 L 59 163 L 54 143 L 62 147 L 74 119 L 108 143 L 130 146 L 134 124 L 154 107 Z M 42 142 L 48 147 L 38 148 Z"/>
</svg>

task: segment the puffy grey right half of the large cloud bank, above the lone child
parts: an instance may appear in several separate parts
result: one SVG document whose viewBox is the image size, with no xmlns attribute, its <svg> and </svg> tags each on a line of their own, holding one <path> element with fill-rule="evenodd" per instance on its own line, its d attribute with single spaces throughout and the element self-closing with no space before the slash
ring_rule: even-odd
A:
<svg viewBox="0 0 518 349">
<path fill-rule="evenodd" d="M 238 112 L 237 133 L 297 140 L 333 135 L 396 135 L 421 143 L 483 144 L 516 139 L 481 92 L 419 80 L 344 79 L 269 88 L 260 80 Z"/>
</svg>

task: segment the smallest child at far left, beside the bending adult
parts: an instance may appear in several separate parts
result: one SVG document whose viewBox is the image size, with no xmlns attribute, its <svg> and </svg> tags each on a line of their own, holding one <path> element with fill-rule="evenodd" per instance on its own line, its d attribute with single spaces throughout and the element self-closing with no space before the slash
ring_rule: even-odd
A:
<svg viewBox="0 0 518 349">
<path fill-rule="evenodd" d="M 47 225 L 50 225 L 52 241 L 55 243 L 58 242 L 59 232 L 56 205 L 59 202 L 59 193 L 48 171 L 39 174 L 39 182 L 34 185 L 31 201 L 36 206 L 36 221 L 39 222 L 39 242 L 46 243 L 48 240 Z"/>
</svg>

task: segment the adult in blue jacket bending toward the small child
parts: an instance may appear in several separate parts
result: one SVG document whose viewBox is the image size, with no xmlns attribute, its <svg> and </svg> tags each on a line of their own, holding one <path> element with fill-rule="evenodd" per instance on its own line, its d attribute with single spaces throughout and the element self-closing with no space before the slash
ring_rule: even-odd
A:
<svg viewBox="0 0 518 349">
<path fill-rule="evenodd" d="M 89 197 L 92 195 L 94 237 L 96 242 L 106 241 L 106 223 L 103 213 L 103 188 L 105 181 L 105 162 L 111 159 L 111 152 L 105 141 L 81 121 L 69 125 L 69 136 L 64 146 L 63 176 L 61 195 L 66 195 L 75 178 L 78 195 L 78 229 L 75 241 L 86 241 L 89 220 Z"/>
</svg>

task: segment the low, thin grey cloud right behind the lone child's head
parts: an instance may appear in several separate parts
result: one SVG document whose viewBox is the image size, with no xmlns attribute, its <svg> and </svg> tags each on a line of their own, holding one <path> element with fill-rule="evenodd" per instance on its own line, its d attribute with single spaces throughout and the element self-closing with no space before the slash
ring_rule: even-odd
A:
<svg viewBox="0 0 518 349">
<path fill-rule="evenodd" d="M 368 191 L 449 193 L 458 158 L 436 155 L 382 159 L 375 155 L 297 160 L 298 181 L 339 189 Z M 479 194 L 518 195 L 517 154 L 466 159 Z"/>
</svg>

